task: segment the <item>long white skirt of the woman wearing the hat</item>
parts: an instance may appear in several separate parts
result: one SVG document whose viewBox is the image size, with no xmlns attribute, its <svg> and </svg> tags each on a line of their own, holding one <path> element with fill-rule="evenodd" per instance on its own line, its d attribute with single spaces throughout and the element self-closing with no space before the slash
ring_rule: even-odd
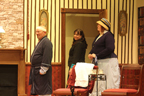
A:
<svg viewBox="0 0 144 96">
<path fill-rule="evenodd" d="M 107 89 L 119 88 L 120 84 L 120 69 L 117 58 L 109 58 L 109 59 L 99 59 L 98 68 L 103 70 L 103 73 L 106 75 L 107 83 L 104 81 L 99 81 L 98 83 L 98 92 L 101 96 L 101 92 L 105 90 L 105 83 L 107 85 Z M 96 82 L 94 85 L 94 89 L 89 96 L 97 96 L 97 86 Z"/>
</svg>

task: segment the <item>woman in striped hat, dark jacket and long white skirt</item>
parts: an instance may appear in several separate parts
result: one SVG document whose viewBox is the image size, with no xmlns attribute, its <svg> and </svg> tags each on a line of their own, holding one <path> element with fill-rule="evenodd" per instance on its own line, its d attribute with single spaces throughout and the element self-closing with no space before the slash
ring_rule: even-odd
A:
<svg viewBox="0 0 144 96">
<path fill-rule="evenodd" d="M 106 18 L 102 18 L 96 23 L 99 35 L 92 43 L 88 58 L 90 60 L 95 58 L 99 69 L 106 75 L 107 89 L 119 88 L 120 70 L 117 56 L 114 53 L 114 35 L 110 32 L 111 24 Z"/>
</svg>

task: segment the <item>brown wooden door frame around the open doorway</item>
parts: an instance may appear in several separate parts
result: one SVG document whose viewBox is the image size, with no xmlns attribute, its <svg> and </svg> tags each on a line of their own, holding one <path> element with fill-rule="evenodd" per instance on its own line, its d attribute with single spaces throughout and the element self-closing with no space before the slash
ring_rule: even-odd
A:
<svg viewBox="0 0 144 96">
<path fill-rule="evenodd" d="M 61 85 L 65 87 L 65 23 L 66 14 L 99 14 L 99 18 L 107 18 L 106 9 L 66 9 L 61 8 Z"/>
</svg>

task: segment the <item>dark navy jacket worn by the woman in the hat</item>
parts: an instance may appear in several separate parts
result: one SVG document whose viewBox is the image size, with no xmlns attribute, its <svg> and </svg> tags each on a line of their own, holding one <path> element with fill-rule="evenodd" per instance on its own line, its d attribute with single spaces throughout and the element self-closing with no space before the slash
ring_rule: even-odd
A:
<svg viewBox="0 0 144 96">
<path fill-rule="evenodd" d="M 95 38 L 95 40 L 98 38 L 98 36 Z M 92 43 L 90 54 L 96 54 L 97 59 L 117 58 L 116 54 L 114 53 L 114 36 L 111 32 L 108 31 L 96 42 L 95 40 Z"/>
</svg>

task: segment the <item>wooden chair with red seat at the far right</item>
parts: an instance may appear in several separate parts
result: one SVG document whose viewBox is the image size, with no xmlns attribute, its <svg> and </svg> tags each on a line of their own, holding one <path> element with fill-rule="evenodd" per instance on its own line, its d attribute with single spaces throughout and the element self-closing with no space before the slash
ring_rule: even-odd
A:
<svg viewBox="0 0 144 96">
<path fill-rule="evenodd" d="M 102 96 L 140 96 L 142 92 L 143 65 L 123 65 L 119 89 L 107 89 Z"/>
</svg>

